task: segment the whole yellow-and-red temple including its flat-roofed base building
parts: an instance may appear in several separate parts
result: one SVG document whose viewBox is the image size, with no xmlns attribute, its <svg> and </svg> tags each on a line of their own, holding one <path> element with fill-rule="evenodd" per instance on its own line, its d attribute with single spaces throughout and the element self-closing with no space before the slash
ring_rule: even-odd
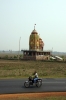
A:
<svg viewBox="0 0 66 100">
<path fill-rule="evenodd" d="M 36 25 L 36 24 L 35 24 Z M 35 30 L 31 32 L 29 37 L 29 50 L 23 51 L 23 59 L 25 60 L 49 60 L 50 51 L 43 51 L 44 42 Z"/>
</svg>

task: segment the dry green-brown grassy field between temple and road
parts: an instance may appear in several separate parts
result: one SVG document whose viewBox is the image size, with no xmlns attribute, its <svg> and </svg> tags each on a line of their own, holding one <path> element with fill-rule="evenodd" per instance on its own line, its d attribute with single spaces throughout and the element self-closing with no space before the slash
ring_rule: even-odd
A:
<svg viewBox="0 0 66 100">
<path fill-rule="evenodd" d="M 0 78 L 26 78 L 34 71 L 42 78 L 66 78 L 66 63 L 0 60 Z"/>
</svg>

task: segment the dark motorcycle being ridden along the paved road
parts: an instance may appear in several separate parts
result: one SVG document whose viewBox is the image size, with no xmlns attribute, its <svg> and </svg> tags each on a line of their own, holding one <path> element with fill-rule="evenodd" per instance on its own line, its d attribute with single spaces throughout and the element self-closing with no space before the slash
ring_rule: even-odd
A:
<svg viewBox="0 0 66 100">
<path fill-rule="evenodd" d="M 24 82 L 24 86 L 26 88 L 30 87 L 31 85 L 33 86 L 35 84 L 36 87 L 40 87 L 42 85 L 42 79 L 37 79 L 35 82 L 34 82 L 34 78 L 32 77 L 29 77 L 27 81 Z"/>
</svg>

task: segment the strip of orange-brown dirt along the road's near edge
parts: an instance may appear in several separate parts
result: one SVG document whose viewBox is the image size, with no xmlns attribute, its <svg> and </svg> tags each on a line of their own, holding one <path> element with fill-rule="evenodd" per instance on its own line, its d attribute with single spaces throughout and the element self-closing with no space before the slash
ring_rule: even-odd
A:
<svg viewBox="0 0 66 100">
<path fill-rule="evenodd" d="M 66 92 L 44 92 L 44 93 L 22 93 L 22 94 L 0 94 L 0 99 L 11 98 L 41 98 L 50 96 L 66 96 Z"/>
</svg>

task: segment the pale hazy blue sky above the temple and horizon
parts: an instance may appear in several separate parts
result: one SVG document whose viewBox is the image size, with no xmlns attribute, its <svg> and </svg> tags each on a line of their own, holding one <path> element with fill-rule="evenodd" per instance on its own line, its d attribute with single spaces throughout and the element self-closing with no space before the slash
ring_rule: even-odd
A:
<svg viewBox="0 0 66 100">
<path fill-rule="evenodd" d="M 29 49 L 34 24 L 44 50 L 66 52 L 66 0 L 0 0 L 0 50 Z"/>
</svg>

